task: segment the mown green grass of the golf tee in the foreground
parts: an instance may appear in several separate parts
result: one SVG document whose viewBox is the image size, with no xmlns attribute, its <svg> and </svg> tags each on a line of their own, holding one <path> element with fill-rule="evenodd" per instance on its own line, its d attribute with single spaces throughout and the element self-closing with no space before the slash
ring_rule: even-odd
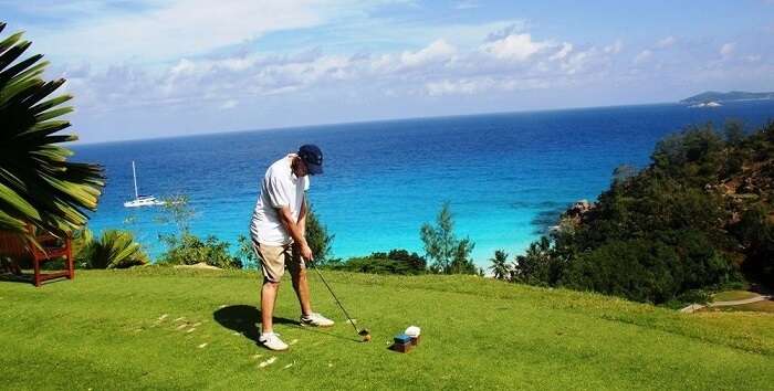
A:
<svg viewBox="0 0 774 391">
<path fill-rule="evenodd" d="M 337 325 L 292 324 L 297 303 L 283 283 L 275 316 L 287 320 L 276 331 L 296 344 L 281 353 L 255 346 L 252 332 L 239 334 L 253 330 L 258 320 L 254 272 L 147 267 L 79 272 L 73 282 L 42 288 L 0 283 L 0 384 L 9 390 L 774 384 L 771 314 L 687 315 L 473 276 L 328 276 L 347 309 L 370 328 L 370 344 L 355 341 L 314 274 L 316 310 Z M 407 355 L 387 350 L 409 325 L 422 328 L 421 345 Z M 272 364 L 260 367 L 272 357 Z"/>
</svg>

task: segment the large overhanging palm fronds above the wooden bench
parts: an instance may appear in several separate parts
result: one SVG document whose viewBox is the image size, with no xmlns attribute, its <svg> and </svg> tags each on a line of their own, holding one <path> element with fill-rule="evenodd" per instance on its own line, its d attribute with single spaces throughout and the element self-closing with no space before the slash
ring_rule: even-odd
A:
<svg viewBox="0 0 774 391">
<path fill-rule="evenodd" d="M 59 133 L 70 127 L 61 116 L 72 96 L 49 97 L 65 81 L 43 81 L 41 54 L 20 60 L 30 44 L 21 32 L 0 40 L 0 231 L 35 243 L 28 224 L 56 235 L 84 226 L 104 177 L 100 166 L 67 161 L 61 144 L 77 137 Z"/>
</svg>

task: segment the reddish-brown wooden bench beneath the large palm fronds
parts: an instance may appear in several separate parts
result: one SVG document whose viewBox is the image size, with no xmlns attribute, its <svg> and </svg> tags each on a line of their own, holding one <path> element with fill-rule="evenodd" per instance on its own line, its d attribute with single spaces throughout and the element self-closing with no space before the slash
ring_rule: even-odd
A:
<svg viewBox="0 0 774 391">
<path fill-rule="evenodd" d="M 29 228 L 33 230 L 32 228 Z M 56 237 L 45 233 L 35 235 L 38 243 L 42 249 L 30 243 L 27 239 L 15 232 L 0 231 L 0 258 L 4 257 L 10 261 L 6 264 L 6 270 L 17 275 L 21 274 L 19 263 L 30 261 L 34 274 L 32 282 L 35 286 L 41 286 L 41 283 L 52 278 L 66 277 L 73 279 L 75 276 L 75 267 L 73 266 L 73 246 L 72 240 L 67 237 Z M 65 270 L 53 273 L 41 273 L 41 266 L 49 261 L 64 258 Z"/>
</svg>

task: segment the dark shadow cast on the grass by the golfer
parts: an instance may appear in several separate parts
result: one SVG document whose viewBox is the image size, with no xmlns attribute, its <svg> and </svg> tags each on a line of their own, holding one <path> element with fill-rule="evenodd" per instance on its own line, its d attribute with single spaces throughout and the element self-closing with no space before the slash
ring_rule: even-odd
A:
<svg viewBox="0 0 774 391">
<path fill-rule="evenodd" d="M 261 323 L 261 310 L 253 307 L 253 306 L 248 306 L 244 304 L 236 305 L 236 306 L 228 306 L 220 308 L 212 313 L 212 318 L 220 324 L 220 326 L 223 326 L 228 329 L 234 330 L 237 332 L 240 332 L 248 339 L 252 340 L 253 342 L 261 345 L 261 342 L 258 340 L 260 337 L 259 328 L 258 325 Z M 322 329 L 315 329 L 313 327 L 302 327 L 299 325 L 299 321 L 296 320 L 291 320 L 287 318 L 278 318 L 274 317 L 274 324 L 275 325 L 294 325 L 297 326 L 300 329 L 307 331 L 307 332 L 316 332 L 316 334 L 322 334 L 328 337 L 334 337 L 334 338 L 339 338 L 339 339 L 345 339 L 345 340 L 353 340 L 351 338 L 346 338 L 343 336 L 338 336 L 335 334 L 331 332 L 325 332 Z M 354 341 L 358 341 L 357 339 L 354 339 Z"/>
</svg>

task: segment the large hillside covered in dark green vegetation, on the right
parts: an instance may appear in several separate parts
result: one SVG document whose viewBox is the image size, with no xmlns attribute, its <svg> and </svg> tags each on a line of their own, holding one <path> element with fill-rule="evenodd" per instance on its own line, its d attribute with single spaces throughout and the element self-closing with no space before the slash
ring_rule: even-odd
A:
<svg viewBox="0 0 774 391">
<path fill-rule="evenodd" d="M 590 205 L 516 256 L 509 279 L 632 300 L 694 300 L 742 275 L 774 285 L 774 123 L 729 123 L 659 141 L 651 163 L 620 168 Z"/>
</svg>

